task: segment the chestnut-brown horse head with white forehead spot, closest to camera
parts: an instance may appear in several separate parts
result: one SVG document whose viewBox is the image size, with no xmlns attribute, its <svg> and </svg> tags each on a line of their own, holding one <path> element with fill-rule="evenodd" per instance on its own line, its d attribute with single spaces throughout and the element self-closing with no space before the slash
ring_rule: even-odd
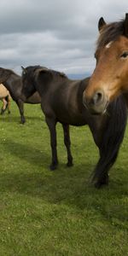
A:
<svg viewBox="0 0 128 256">
<path fill-rule="evenodd" d="M 125 20 L 108 25 L 101 18 L 98 27 L 96 68 L 83 97 L 91 113 L 104 113 L 120 93 L 128 105 L 128 14 Z"/>
</svg>

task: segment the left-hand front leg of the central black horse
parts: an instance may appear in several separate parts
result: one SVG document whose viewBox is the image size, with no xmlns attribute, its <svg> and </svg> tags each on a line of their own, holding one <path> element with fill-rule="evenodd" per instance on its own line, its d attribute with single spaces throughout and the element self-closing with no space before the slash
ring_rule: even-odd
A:
<svg viewBox="0 0 128 256">
<path fill-rule="evenodd" d="M 51 164 L 49 166 L 50 170 L 54 171 L 56 169 L 56 166 L 58 165 L 58 158 L 57 158 L 57 143 L 56 143 L 56 130 L 55 125 L 56 121 L 55 119 L 46 117 L 46 123 L 49 127 L 49 133 L 50 133 L 50 147 L 51 147 L 51 153 L 52 153 L 52 160 Z"/>
</svg>

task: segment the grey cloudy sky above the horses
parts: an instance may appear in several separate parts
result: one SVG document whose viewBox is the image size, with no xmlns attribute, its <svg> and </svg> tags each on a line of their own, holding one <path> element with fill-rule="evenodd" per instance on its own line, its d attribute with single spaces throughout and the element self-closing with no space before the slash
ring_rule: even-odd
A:
<svg viewBox="0 0 128 256">
<path fill-rule="evenodd" d="M 0 0 L 0 67 L 41 65 L 85 78 L 96 65 L 98 20 L 126 12 L 127 0 Z"/>
</svg>

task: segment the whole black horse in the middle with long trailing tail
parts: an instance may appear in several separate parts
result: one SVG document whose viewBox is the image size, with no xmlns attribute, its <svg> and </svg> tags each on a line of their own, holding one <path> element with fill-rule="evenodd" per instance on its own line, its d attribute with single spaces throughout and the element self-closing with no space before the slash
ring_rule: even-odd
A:
<svg viewBox="0 0 128 256">
<path fill-rule="evenodd" d="M 67 166 L 73 165 L 70 150 L 69 125 L 89 125 L 94 141 L 99 148 L 100 159 L 97 162 L 93 181 L 96 187 L 108 184 L 108 170 L 115 162 L 119 146 L 122 143 L 127 120 L 127 109 L 120 96 L 108 106 L 108 113 L 91 115 L 83 104 L 83 91 L 89 79 L 70 80 L 64 73 L 48 68 L 22 67 L 22 97 L 24 101 L 38 90 L 45 120 L 49 126 L 52 161 L 50 169 L 58 164 L 56 151 L 55 125 L 60 122 L 64 131 L 64 143 L 67 147 Z"/>
</svg>

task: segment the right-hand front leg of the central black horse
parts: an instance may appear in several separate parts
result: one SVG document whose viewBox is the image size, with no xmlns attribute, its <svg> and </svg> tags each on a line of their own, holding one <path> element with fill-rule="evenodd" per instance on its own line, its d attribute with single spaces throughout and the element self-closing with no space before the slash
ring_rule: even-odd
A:
<svg viewBox="0 0 128 256">
<path fill-rule="evenodd" d="M 70 141 L 70 134 L 69 134 L 69 125 L 62 125 L 63 132 L 64 132 L 64 143 L 67 148 L 67 166 L 73 166 L 73 156 L 71 154 L 71 141 Z"/>
</svg>

